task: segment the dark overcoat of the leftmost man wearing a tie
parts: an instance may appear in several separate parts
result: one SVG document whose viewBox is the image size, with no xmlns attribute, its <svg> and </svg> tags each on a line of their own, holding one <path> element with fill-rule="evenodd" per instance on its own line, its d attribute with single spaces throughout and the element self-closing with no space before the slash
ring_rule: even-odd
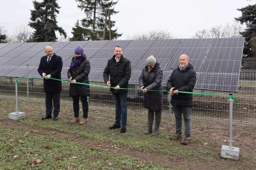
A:
<svg viewBox="0 0 256 170">
<path fill-rule="evenodd" d="M 55 53 L 53 54 L 49 64 L 47 63 L 47 55 L 41 58 L 39 67 L 37 69 L 38 73 L 45 73 L 46 75 L 51 74 L 51 78 L 61 80 L 61 70 L 62 70 L 62 58 Z M 61 81 L 44 79 L 44 92 L 59 92 L 62 90 Z"/>
</svg>

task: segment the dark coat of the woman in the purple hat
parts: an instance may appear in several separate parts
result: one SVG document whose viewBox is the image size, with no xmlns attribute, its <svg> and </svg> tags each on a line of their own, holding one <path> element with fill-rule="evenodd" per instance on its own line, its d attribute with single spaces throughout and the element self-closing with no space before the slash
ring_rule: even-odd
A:
<svg viewBox="0 0 256 170">
<path fill-rule="evenodd" d="M 75 62 L 75 57 L 72 58 L 71 64 Z M 70 64 L 70 66 L 71 66 Z M 68 69 L 68 79 L 70 77 L 75 79 L 76 82 L 89 84 L 89 73 L 90 73 L 91 65 L 89 60 L 85 60 L 81 62 L 81 64 L 77 67 Z M 76 84 L 70 83 L 69 87 L 69 96 L 90 96 L 90 86 L 85 84 Z"/>
</svg>

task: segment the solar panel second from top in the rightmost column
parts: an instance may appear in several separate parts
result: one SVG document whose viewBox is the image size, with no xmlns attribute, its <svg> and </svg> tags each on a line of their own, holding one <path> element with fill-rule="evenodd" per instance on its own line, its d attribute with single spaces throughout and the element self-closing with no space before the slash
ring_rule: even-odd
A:
<svg viewBox="0 0 256 170">
<path fill-rule="evenodd" d="M 243 48 L 210 48 L 206 56 L 206 60 L 220 59 L 220 60 L 242 60 Z"/>
</svg>

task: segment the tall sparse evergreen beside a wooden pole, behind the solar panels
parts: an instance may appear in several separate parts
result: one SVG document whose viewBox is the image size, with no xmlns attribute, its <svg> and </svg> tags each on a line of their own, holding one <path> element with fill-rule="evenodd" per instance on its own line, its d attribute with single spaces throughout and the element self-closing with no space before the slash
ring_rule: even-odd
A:
<svg viewBox="0 0 256 170">
<path fill-rule="evenodd" d="M 79 4 L 78 8 L 86 14 L 86 18 L 81 20 L 82 27 L 84 28 L 83 34 L 85 40 L 103 40 L 103 32 L 105 27 L 105 16 L 107 11 L 111 11 L 111 15 L 118 13 L 112 8 L 117 2 L 112 0 L 75 0 Z M 107 20 L 107 25 L 109 21 Z M 110 21 L 111 28 L 115 27 L 115 21 Z M 77 25 L 76 25 L 77 27 Z M 108 28 L 108 27 L 107 27 Z M 77 33 L 75 31 L 81 30 L 73 28 L 73 35 Z M 75 33 L 75 34 L 74 34 Z M 79 32 L 78 32 L 79 33 Z M 122 34 L 117 33 L 117 29 L 111 29 L 111 40 L 117 39 Z M 73 39 L 71 38 L 71 39 Z M 106 40 L 109 40 L 109 31 L 106 30 Z"/>
</svg>

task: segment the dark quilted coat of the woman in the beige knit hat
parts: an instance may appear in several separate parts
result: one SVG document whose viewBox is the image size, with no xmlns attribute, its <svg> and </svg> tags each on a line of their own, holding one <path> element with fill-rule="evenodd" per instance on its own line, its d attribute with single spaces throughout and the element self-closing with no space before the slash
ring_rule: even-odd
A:
<svg viewBox="0 0 256 170">
<path fill-rule="evenodd" d="M 139 87 L 144 86 L 147 90 L 162 90 L 163 70 L 160 64 L 156 62 L 153 69 L 148 72 L 145 67 L 139 77 Z M 163 92 L 147 91 L 143 94 L 143 106 L 151 111 L 162 111 L 163 109 Z"/>
</svg>

